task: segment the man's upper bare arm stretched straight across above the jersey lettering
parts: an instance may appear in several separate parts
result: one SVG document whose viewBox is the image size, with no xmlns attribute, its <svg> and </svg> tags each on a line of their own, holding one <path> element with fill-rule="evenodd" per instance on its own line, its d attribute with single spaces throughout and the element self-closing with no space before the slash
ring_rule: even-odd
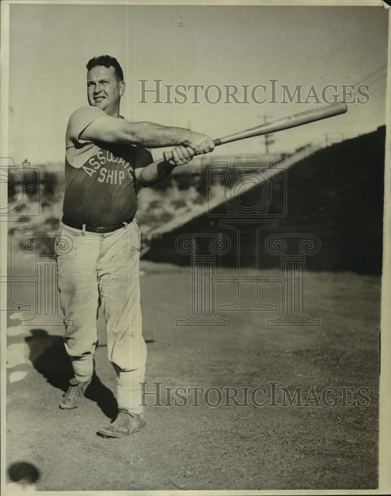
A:
<svg viewBox="0 0 391 496">
<path fill-rule="evenodd" d="M 190 146 L 196 155 L 208 153 L 215 147 L 213 140 L 206 134 L 150 122 L 130 123 L 110 116 L 96 119 L 83 130 L 80 137 L 91 141 L 134 144 L 146 148 L 177 146 L 186 142 L 186 146 Z"/>
</svg>

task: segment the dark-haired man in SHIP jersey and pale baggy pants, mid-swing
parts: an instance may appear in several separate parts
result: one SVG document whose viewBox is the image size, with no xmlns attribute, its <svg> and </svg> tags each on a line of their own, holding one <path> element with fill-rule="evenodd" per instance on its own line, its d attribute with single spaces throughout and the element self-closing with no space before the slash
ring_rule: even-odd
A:
<svg viewBox="0 0 391 496">
<path fill-rule="evenodd" d="M 146 345 L 140 308 L 140 232 L 135 220 L 136 182 L 150 186 L 194 155 L 214 149 L 212 139 L 179 127 L 131 123 L 119 115 L 125 91 L 116 59 L 87 64 L 89 107 L 77 109 L 66 130 L 65 193 L 58 239 L 71 249 L 58 253 L 64 345 L 74 377 L 60 403 L 79 405 L 94 374 L 96 317 L 101 301 L 107 323 L 108 358 L 117 374 L 118 414 L 100 429 L 122 437 L 145 427 L 140 406 Z M 186 146 L 181 143 L 186 142 Z M 174 146 L 169 162 L 153 161 L 148 148 Z"/>
</svg>

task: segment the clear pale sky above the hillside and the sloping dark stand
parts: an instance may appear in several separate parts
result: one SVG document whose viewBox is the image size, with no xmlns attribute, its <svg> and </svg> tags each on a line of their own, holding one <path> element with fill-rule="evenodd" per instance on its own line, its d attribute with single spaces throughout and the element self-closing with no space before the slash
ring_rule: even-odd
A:
<svg viewBox="0 0 391 496">
<path fill-rule="evenodd" d="M 88 105 L 89 59 L 108 54 L 123 67 L 121 114 L 190 127 L 213 138 L 320 107 L 310 103 L 139 103 L 140 79 L 163 85 L 369 84 L 369 102 L 348 113 L 275 135 L 271 151 L 293 151 L 325 134 L 345 137 L 385 124 L 388 12 L 382 7 L 10 5 L 9 150 L 16 163 L 63 161 L 69 116 Z M 279 86 L 278 86 L 279 87 Z M 340 91 L 339 91 L 340 92 Z M 210 99 L 217 93 L 211 91 Z M 258 94 L 262 98 L 262 94 Z M 268 92 L 270 95 L 270 92 Z M 353 96 L 357 96 L 354 92 Z M 240 98 L 240 92 L 238 94 Z M 251 99 L 250 99 L 251 100 Z M 325 102 L 322 103 L 325 105 Z M 257 155 L 261 138 L 219 148 Z M 216 153 L 216 152 L 215 152 Z M 162 150 L 153 150 L 155 159 Z"/>
</svg>

